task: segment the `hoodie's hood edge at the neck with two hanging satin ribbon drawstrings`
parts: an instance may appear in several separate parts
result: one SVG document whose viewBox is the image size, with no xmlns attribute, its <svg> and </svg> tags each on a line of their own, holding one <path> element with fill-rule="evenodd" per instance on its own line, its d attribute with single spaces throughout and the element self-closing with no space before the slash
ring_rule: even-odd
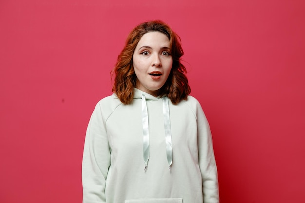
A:
<svg viewBox="0 0 305 203">
<path fill-rule="evenodd" d="M 166 144 L 166 157 L 169 164 L 169 170 L 171 170 L 172 165 L 172 133 L 171 133 L 171 120 L 170 120 L 170 108 L 169 99 L 166 95 L 154 97 L 146 92 L 134 88 L 133 99 L 142 100 L 142 126 L 143 126 L 143 159 L 146 171 L 149 160 L 149 120 L 146 100 L 163 100 L 163 120 L 164 120 L 164 131 L 165 131 L 165 144 Z M 161 112 L 160 112 L 161 113 Z"/>
</svg>

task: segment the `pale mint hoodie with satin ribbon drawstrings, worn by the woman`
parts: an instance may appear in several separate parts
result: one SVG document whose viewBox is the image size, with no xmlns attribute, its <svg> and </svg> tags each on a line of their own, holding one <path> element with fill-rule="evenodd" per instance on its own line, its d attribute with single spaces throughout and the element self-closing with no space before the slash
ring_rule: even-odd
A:
<svg viewBox="0 0 305 203">
<path fill-rule="evenodd" d="M 188 96 L 173 105 L 138 89 L 129 105 L 114 94 L 102 99 L 86 132 L 82 182 L 83 203 L 219 203 L 212 137 L 199 102 Z"/>
</svg>

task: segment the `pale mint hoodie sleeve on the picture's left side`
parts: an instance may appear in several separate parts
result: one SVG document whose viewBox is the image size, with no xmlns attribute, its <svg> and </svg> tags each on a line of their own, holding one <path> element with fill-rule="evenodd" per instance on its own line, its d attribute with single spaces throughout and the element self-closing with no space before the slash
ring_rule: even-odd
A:
<svg viewBox="0 0 305 203">
<path fill-rule="evenodd" d="M 82 184 L 83 203 L 106 203 L 105 185 L 110 166 L 110 149 L 100 104 L 93 111 L 86 131 Z"/>
</svg>

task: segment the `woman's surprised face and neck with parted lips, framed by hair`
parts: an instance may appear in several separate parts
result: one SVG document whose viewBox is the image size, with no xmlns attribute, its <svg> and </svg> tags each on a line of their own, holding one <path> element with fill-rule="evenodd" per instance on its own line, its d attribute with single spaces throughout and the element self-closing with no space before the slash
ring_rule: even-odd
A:
<svg viewBox="0 0 305 203">
<path fill-rule="evenodd" d="M 133 53 L 136 87 L 153 96 L 159 96 L 172 68 L 170 40 L 160 32 L 142 36 Z"/>
</svg>

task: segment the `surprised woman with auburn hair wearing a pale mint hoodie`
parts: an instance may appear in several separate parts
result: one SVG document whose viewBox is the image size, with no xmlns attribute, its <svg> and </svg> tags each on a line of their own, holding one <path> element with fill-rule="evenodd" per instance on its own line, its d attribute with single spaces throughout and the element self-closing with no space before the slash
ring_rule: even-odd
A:
<svg viewBox="0 0 305 203">
<path fill-rule="evenodd" d="M 86 132 L 83 203 L 218 203 L 209 124 L 161 21 L 135 27 Z"/>
</svg>

